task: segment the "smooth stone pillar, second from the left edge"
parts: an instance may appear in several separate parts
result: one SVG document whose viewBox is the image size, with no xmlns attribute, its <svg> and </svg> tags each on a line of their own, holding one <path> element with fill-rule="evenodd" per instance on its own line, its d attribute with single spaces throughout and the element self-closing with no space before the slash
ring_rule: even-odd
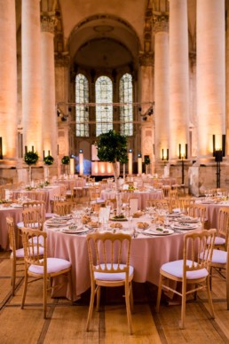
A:
<svg viewBox="0 0 229 344">
<path fill-rule="evenodd" d="M 22 125 L 24 146 L 43 158 L 40 0 L 23 0 L 21 12 Z"/>
</svg>

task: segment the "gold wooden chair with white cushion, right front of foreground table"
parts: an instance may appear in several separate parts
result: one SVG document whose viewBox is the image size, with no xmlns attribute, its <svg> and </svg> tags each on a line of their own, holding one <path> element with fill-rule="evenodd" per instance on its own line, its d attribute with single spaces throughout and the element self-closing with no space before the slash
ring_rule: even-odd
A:
<svg viewBox="0 0 229 344">
<path fill-rule="evenodd" d="M 186 317 L 186 295 L 196 293 L 206 288 L 209 299 L 209 312 L 214 318 L 214 309 L 211 300 L 209 278 L 210 264 L 214 246 L 216 230 L 193 231 L 185 235 L 183 259 L 175 262 L 167 262 L 160 269 L 160 280 L 158 286 L 156 311 L 159 311 L 162 288 L 166 291 L 172 291 L 182 298 L 181 303 L 181 321 L 179 327 L 185 327 Z M 166 280 L 173 280 L 182 283 L 182 292 L 165 284 Z M 187 285 L 190 288 L 187 289 Z M 191 289 L 193 285 L 193 288 Z"/>
</svg>

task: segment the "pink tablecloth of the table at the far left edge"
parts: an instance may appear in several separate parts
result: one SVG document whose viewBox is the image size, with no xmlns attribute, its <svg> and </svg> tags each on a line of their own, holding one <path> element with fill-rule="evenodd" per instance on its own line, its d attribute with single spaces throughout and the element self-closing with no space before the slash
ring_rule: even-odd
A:
<svg viewBox="0 0 229 344">
<path fill-rule="evenodd" d="M 4 250 L 9 248 L 9 237 L 6 227 L 6 217 L 12 216 L 14 223 L 20 223 L 22 221 L 22 207 L 1 207 L 0 208 L 0 246 Z M 16 228 L 17 231 L 17 228 Z M 17 235 L 17 233 L 16 233 Z"/>
</svg>

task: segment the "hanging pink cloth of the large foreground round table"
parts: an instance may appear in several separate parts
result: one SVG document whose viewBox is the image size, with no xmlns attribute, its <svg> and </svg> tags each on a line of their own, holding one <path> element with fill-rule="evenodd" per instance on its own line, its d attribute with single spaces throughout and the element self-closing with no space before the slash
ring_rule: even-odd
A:
<svg viewBox="0 0 229 344">
<path fill-rule="evenodd" d="M 128 226 L 128 223 L 123 226 Z M 46 223 L 44 231 L 48 233 L 48 256 L 67 259 L 72 263 L 74 300 L 77 300 L 91 286 L 86 235 L 63 233 L 57 228 L 48 228 Z M 183 238 L 184 233 L 154 237 L 139 234 L 138 238 L 132 238 L 130 264 L 134 267 L 133 280 L 158 285 L 162 264 L 182 258 Z M 56 288 L 52 296 L 70 299 L 67 284 Z"/>
</svg>

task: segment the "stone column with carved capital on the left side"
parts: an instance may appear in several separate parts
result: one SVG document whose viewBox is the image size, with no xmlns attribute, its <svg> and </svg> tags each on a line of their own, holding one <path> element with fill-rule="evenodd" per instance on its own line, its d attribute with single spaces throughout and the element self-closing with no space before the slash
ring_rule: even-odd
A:
<svg viewBox="0 0 229 344">
<path fill-rule="evenodd" d="M 55 107 L 55 63 L 54 63 L 53 17 L 42 17 L 42 98 L 43 98 L 43 150 L 57 158 L 57 112 Z"/>
</svg>

